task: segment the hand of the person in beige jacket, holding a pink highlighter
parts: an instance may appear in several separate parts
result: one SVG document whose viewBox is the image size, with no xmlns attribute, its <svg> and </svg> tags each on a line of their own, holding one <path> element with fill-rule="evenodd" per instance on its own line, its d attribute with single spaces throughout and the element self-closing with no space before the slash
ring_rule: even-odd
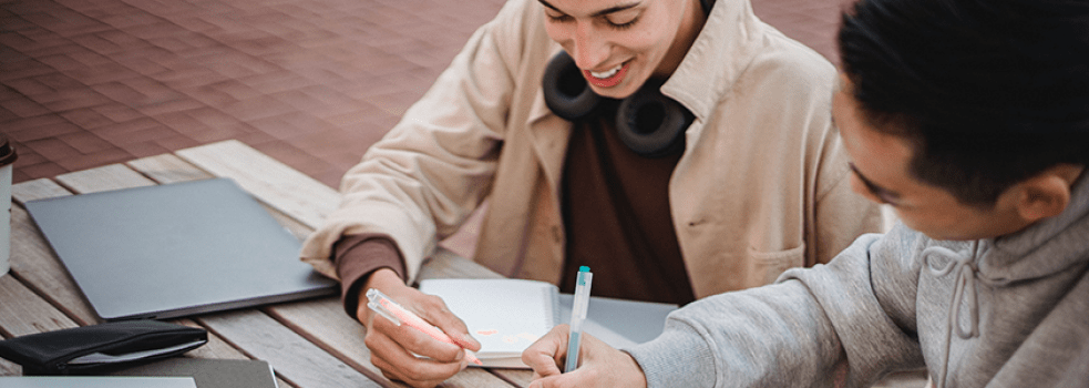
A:
<svg viewBox="0 0 1089 388">
<path fill-rule="evenodd" d="M 397 326 L 378 315 L 367 307 L 366 293 L 370 288 L 378 288 L 405 309 L 438 326 L 461 347 L 431 338 L 408 325 Z M 367 326 L 363 343 L 370 349 L 371 364 L 389 379 L 413 387 L 434 387 L 469 365 L 462 347 L 480 350 L 480 343 L 469 335 L 465 324 L 441 298 L 405 286 L 392 269 L 382 268 L 371 274 L 360 289 L 359 300 L 356 316 Z"/>
</svg>

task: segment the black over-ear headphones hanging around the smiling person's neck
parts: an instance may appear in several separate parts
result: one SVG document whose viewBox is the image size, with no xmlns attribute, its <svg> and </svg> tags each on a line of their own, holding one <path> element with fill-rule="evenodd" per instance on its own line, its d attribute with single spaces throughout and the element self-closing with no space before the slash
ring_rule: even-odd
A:
<svg viewBox="0 0 1089 388">
<path fill-rule="evenodd" d="M 700 0 L 703 14 L 711 13 L 715 0 Z M 685 149 L 685 130 L 695 116 L 677 101 L 661 94 L 664 80 L 647 80 L 643 88 L 620 102 L 616 129 L 631 151 L 645 157 L 660 157 Z M 542 80 L 545 104 L 557 116 L 578 121 L 590 116 L 602 96 L 594 93 L 575 60 L 561 51 L 548 61 Z"/>
</svg>

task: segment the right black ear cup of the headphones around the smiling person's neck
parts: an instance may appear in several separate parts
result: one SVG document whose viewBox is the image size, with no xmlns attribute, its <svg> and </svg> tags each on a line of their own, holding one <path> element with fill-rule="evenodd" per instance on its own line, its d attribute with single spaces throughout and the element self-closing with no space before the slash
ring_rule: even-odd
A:
<svg viewBox="0 0 1089 388">
<path fill-rule="evenodd" d="M 661 81 L 647 81 L 620 103 L 616 130 L 620 141 L 644 157 L 661 157 L 685 147 L 685 130 L 695 116 L 661 94 Z"/>
</svg>

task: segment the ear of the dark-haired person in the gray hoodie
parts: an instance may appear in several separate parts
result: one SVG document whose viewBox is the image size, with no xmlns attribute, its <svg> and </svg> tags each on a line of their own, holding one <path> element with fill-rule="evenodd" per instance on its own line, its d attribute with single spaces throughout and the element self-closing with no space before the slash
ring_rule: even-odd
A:
<svg viewBox="0 0 1089 388">
<path fill-rule="evenodd" d="M 1083 167 L 1057 165 L 1017 184 L 1017 213 L 1028 222 L 1059 215 L 1070 204 L 1070 186 Z"/>
</svg>

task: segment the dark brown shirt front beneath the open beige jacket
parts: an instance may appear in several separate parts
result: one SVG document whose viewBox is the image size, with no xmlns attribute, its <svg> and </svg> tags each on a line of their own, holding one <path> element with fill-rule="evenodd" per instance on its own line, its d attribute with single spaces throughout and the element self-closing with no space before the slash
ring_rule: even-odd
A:
<svg viewBox="0 0 1089 388">
<path fill-rule="evenodd" d="M 685 305 L 696 297 L 668 195 L 680 152 L 640 156 L 620 141 L 614 122 L 576 124 L 567 145 L 562 188 L 567 245 L 559 289 L 574 293 L 575 275 L 585 265 L 594 272 L 595 296 Z"/>
</svg>

